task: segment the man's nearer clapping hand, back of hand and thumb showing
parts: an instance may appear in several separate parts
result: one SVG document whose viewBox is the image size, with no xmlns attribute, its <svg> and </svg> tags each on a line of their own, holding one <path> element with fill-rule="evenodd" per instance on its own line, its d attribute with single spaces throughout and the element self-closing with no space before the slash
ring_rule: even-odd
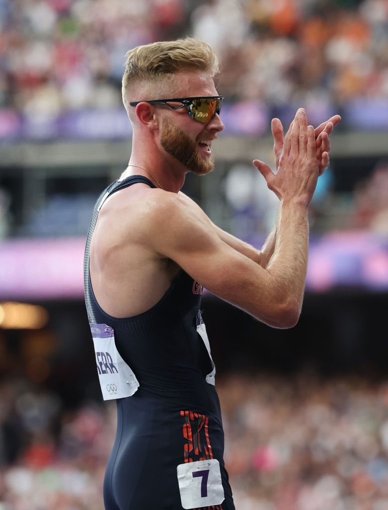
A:
<svg viewBox="0 0 388 510">
<path fill-rule="evenodd" d="M 321 126 L 318 129 L 321 129 Z M 323 144 L 325 137 L 322 140 Z M 317 158 L 314 128 L 311 125 L 307 126 L 306 112 L 302 108 L 297 111 L 284 137 L 277 160 L 277 173 L 262 161 L 254 160 L 253 164 L 263 175 L 267 186 L 280 200 L 294 200 L 308 206 L 317 186 L 320 163 Z"/>
</svg>

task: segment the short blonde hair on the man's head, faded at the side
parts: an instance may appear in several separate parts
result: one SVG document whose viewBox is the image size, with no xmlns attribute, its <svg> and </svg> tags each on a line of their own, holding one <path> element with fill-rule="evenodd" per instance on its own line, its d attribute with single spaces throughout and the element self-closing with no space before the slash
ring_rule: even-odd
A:
<svg viewBox="0 0 388 510">
<path fill-rule="evenodd" d="M 219 72 L 211 47 L 192 37 L 137 46 L 127 52 L 126 58 L 122 94 L 127 111 L 130 101 L 159 99 L 157 95 L 166 82 L 173 86 L 175 73 L 199 70 L 214 77 Z M 137 97 L 140 91 L 142 97 Z"/>
</svg>

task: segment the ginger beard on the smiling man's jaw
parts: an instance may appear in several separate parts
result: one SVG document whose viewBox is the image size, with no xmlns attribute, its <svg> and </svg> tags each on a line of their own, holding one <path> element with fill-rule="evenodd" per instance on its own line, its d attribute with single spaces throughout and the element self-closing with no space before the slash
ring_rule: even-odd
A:
<svg viewBox="0 0 388 510">
<path fill-rule="evenodd" d="M 160 144 L 168 154 L 197 175 L 206 175 L 214 168 L 214 157 L 201 157 L 197 141 L 192 141 L 183 130 L 166 118 L 162 123 Z"/>
</svg>

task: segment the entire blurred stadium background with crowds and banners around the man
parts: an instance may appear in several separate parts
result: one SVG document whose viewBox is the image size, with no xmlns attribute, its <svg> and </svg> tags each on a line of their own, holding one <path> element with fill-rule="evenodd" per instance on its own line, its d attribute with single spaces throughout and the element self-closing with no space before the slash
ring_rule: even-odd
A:
<svg viewBox="0 0 388 510">
<path fill-rule="evenodd" d="M 103 510 L 115 432 L 83 302 L 91 210 L 124 170 L 129 48 L 193 35 L 222 64 L 216 166 L 184 191 L 260 247 L 270 122 L 334 113 L 298 325 L 204 294 L 238 510 L 388 508 L 387 0 L 0 0 L 0 510 Z"/>
</svg>

